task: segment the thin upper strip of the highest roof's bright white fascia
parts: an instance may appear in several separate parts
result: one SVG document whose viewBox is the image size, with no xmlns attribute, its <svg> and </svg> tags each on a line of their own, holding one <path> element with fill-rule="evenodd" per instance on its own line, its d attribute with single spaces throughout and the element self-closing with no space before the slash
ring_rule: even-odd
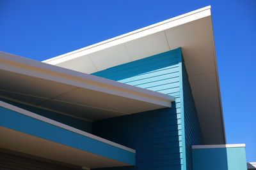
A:
<svg viewBox="0 0 256 170">
<path fill-rule="evenodd" d="M 211 6 L 210 6 L 210 5 L 209 5 L 209 6 L 205 6 L 204 8 L 200 8 L 200 9 L 195 10 L 195 11 L 191 11 L 191 12 L 189 12 L 189 13 L 185 13 L 185 14 L 183 14 L 183 15 L 179 15 L 179 16 L 177 16 L 177 17 L 170 18 L 170 19 L 168 19 L 168 20 L 164 20 L 164 21 L 162 21 L 162 22 L 158 22 L 158 23 L 156 23 L 156 24 L 149 25 L 149 26 L 147 26 L 147 27 L 143 27 L 143 28 L 141 28 L 141 29 L 137 29 L 137 30 L 135 30 L 135 31 L 128 32 L 128 33 L 126 33 L 126 34 L 122 34 L 122 35 L 120 35 L 120 36 L 116 36 L 115 38 L 110 38 L 110 39 L 107 39 L 107 40 L 105 40 L 105 41 L 101 41 L 101 42 L 99 42 L 99 43 L 95 43 L 95 44 L 93 44 L 93 45 L 86 46 L 86 47 L 80 48 L 80 49 L 78 49 L 78 50 L 74 50 L 74 51 L 72 51 L 72 52 L 64 53 L 63 55 L 58 55 L 58 56 L 56 56 L 56 57 L 52 57 L 51 59 L 43 60 L 42 62 L 46 62 L 46 63 L 47 63 L 47 62 L 51 62 L 51 61 L 53 61 L 53 60 L 57 60 L 57 59 L 60 59 L 60 58 L 63 58 L 63 57 L 67 57 L 68 55 L 72 55 L 72 54 L 74 54 L 74 53 L 82 52 L 82 51 L 84 51 L 84 50 L 88 50 L 88 49 L 93 48 L 93 47 L 95 47 L 95 46 L 104 45 L 104 44 L 109 43 L 109 42 L 111 42 L 111 41 L 116 41 L 116 40 L 118 40 L 118 39 L 122 39 L 122 38 L 125 38 L 125 37 L 127 37 L 127 36 L 131 36 L 132 34 L 136 34 L 136 33 L 138 33 L 138 32 L 146 31 L 146 30 L 148 30 L 148 29 L 152 29 L 152 28 L 157 27 L 157 26 L 159 26 L 159 25 L 163 25 L 163 24 L 166 24 L 166 23 L 169 23 L 169 22 L 173 22 L 174 20 L 179 20 L 179 19 L 181 19 L 181 18 L 188 17 L 189 15 L 193 15 L 193 14 L 195 14 L 195 13 L 199 13 L 199 12 L 202 12 L 202 11 L 205 11 L 205 10 L 209 10 L 209 9 L 211 9 Z M 63 62 L 63 61 L 61 61 L 61 62 Z"/>
</svg>

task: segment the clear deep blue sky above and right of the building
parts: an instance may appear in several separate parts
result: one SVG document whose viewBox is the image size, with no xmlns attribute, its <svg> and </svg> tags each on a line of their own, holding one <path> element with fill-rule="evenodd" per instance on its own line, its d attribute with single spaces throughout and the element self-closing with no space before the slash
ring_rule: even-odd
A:
<svg viewBox="0 0 256 170">
<path fill-rule="evenodd" d="M 0 50 L 45 60 L 212 6 L 227 142 L 256 162 L 256 1 L 0 1 Z"/>
</svg>

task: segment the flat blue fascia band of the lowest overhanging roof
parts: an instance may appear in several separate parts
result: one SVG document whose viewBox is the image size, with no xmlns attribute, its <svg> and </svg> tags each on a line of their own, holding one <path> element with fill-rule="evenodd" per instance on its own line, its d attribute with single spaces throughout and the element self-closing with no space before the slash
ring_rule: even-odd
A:
<svg viewBox="0 0 256 170">
<path fill-rule="evenodd" d="M 135 153 L 128 152 L 127 150 L 117 148 L 107 143 L 102 143 L 101 141 L 88 138 L 76 132 L 68 131 L 3 107 L 0 107 L 0 125 L 62 145 L 119 160 L 127 164 L 135 164 Z"/>
</svg>

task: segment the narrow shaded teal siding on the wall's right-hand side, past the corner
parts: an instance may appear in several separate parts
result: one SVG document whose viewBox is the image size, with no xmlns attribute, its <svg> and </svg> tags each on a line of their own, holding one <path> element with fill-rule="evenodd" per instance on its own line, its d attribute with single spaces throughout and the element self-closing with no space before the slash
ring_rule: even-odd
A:
<svg viewBox="0 0 256 170">
<path fill-rule="evenodd" d="M 191 145 L 202 145 L 203 140 L 184 60 L 182 60 L 182 81 L 185 123 L 184 129 L 186 134 L 186 167 L 188 170 L 191 170 L 193 169 Z"/>
</svg>

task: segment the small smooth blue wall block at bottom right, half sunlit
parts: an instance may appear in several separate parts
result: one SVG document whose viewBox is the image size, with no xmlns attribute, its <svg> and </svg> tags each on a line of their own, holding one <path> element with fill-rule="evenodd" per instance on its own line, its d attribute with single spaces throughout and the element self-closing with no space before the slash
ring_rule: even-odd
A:
<svg viewBox="0 0 256 170">
<path fill-rule="evenodd" d="M 245 148 L 193 149 L 195 170 L 246 170 Z"/>
</svg>

